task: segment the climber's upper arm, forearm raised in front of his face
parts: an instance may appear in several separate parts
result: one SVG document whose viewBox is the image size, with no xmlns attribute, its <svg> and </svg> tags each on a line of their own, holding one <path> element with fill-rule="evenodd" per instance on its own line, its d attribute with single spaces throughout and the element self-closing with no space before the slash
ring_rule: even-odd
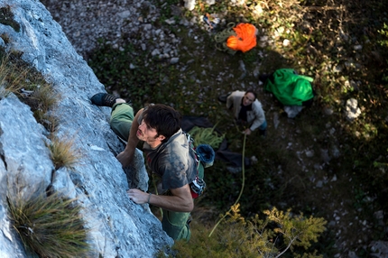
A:
<svg viewBox="0 0 388 258">
<path fill-rule="evenodd" d="M 134 150 L 136 149 L 139 139 L 136 136 L 139 123 L 137 122 L 140 115 L 143 113 L 143 108 L 140 109 L 136 115 L 134 115 L 134 121 L 132 122 L 131 130 L 129 131 L 128 142 L 126 143 L 124 152 L 120 152 L 117 155 L 117 160 L 123 165 L 123 168 L 129 166 L 134 159 Z"/>
</svg>

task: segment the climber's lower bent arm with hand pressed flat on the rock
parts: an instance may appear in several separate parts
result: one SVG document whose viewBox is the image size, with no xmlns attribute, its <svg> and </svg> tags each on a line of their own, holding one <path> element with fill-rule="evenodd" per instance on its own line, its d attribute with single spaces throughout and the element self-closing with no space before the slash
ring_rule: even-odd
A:
<svg viewBox="0 0 388 258">
<path fill-rule="evenodd" d="M 171 196 L 154 195 L 143 192 L 139 189 L 127 190 L 128 197 L 137 204 L 150 203 L 171 211 L 190 212 L 194 208 L 189 184 L 179 189 L 170 189 Z"/>
</svg>

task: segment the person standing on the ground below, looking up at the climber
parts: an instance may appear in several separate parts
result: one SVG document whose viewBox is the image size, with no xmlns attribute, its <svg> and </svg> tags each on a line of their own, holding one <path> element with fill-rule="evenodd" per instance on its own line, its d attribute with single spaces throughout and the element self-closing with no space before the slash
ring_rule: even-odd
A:
<svg viewBox="0 0 388 258">
<path fill-rule="evenodd" d="M 263 107 L 253 90 L 236 90 L 229 95 L 219 96 L 218 100 L 226 102 L 227 109 L 233 108 L 237 122 L 248 124 L 249 127 L 243 131 L 243 134 L 250 135 L 258 128 L 260 135 L 266 135 L 267 122 Z"/>
</svg>

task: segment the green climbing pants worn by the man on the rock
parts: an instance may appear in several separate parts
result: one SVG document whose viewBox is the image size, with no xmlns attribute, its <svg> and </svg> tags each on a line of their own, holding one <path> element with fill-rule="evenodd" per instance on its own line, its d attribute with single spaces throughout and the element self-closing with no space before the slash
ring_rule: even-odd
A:
<svg viewBox="0 0 388 258">
<path fill-rule="evenodd" d="M 115 104 L 112 107 L 110 126 L 119 137 L 128 141 L 129 131 L 134 121 L 134 109 L 126 103 Z M 203 180 L 204 167 L 199 164 L 199 178 Z M 175 212 L 163 209 L 162 228 L 174 240 L 189 241 L 189 212 Z"/>
</svg>

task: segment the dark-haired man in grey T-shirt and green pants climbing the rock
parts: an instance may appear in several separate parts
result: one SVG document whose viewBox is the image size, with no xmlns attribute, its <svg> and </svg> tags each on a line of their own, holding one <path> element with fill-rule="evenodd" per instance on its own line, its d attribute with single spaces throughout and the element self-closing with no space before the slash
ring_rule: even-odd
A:
<svg viewBox="0 0 388 258">
<path fill-rule="evenodd" d="M 143 152 L 152 172 L 162 179 L 165 194 L 154 195 L 129 189 L 128 197 L 136 204 L 162 207 L 162 228 L 172 239 L 190 238 L 189 215 L 194 207 L 190 183 L 203 179 L 204 169 L 190 148 L 187 134 L 180 128 L 180 113 L 162 104 L 134 109 L 122 98 L 106 93 L 91 97 L 97 106 L 112 107 L 110 125 L 115 134 L 128 139 L 124 152 L 117 155 L 123 167 L 134 158 L 135 148 L 143 141 Z"/>
</svg>

